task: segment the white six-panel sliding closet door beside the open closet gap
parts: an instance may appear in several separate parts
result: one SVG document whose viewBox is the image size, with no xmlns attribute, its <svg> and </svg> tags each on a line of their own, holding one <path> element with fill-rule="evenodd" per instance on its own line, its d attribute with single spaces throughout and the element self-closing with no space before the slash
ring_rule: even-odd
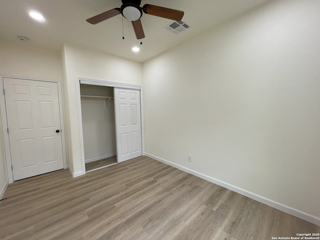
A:
<svg viewBox="0 0 320 240">
<path fill-rule="evenodd" d="M 140 90 L 114 87 L 117 161 L 142 155 Z"/>
</svg>

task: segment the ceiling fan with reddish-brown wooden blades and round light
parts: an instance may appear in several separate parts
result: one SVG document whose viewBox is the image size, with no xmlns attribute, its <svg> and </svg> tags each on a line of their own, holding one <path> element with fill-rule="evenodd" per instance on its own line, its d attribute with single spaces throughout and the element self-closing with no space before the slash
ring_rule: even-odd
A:
<svg viewBox="0 0 320 240">
<path fill-rule="evenodd" d="M 102 12 L 96 16 L 92 16 L 86 19 L 87 22 L 91 24 L 96 24 L 101 21 L 104 21 L 112 16 L 116 16 L 117 14 L 122 14 L 126 19 L 132 22 L 132 26 L 137 39 L 142 39 L 144 37 L 144 32 L 141 24 L 140 17 L 142 16 L 142 11 L 145 14 L 150 14 L 154 16 L 160 16 L 172 20 L 181 20 L 184 14 L 183 11 L 166 8 L 162 6 L 156 6 L 151 4 L 144 4 L 140 7 L 141 0 L 121 0 L 122 5 L 120 7 L 116 7 L 110 9 L 108 11 Z"/>
</svg>

